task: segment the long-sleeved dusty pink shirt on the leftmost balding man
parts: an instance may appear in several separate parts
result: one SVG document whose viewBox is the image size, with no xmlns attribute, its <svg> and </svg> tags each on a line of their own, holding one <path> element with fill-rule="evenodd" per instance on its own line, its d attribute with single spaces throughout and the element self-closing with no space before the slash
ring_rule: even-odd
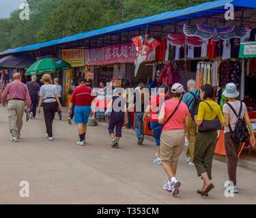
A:
<svg viewBox="0 0 256 218">
<path fill-rule="evenodd" d="M 20 81 L 12 82 L 5 88 L 1 96 L 1 101 L 6 102 L 7 99 L 21 99 L 26 102 L 27 108 L 30 108 L 31 106 L 29 90 L 27 89 L 27 86 Z"/>
</svg>

